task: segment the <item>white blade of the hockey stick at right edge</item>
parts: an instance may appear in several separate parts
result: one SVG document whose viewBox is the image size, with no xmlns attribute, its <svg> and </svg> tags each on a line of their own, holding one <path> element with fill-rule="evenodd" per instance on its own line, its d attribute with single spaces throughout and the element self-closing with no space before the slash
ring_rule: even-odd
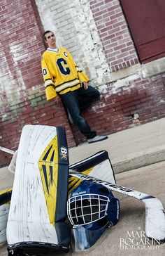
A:
<svg viewBox="0 0 165 256">
<path fill-rule="evenodd" d="M 148 238 L 165 242 L 165 212 L 162 202 L 157 198 L 145 198 L 145 233 Z"/>
</svg>

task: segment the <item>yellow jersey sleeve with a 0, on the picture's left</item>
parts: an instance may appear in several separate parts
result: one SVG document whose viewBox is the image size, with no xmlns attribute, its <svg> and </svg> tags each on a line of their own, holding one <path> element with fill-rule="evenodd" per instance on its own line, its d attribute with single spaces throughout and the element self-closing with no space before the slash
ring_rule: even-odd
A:
<svg viewBox="0 0 165 256">
<path fill-rule="evenodd" d="M 53 98 L 57 96 L 57 92 L 55 91 L 55 84 L 52 81 L 52 77 L 50 75 L 50 71 L 48 69 L 48 65 L 43 56 L 41 60 L 41 68 L 43 73 L 43 80 L 45 82 L 45 94 L 47 101 L 51 101 Z"/>
</svg>

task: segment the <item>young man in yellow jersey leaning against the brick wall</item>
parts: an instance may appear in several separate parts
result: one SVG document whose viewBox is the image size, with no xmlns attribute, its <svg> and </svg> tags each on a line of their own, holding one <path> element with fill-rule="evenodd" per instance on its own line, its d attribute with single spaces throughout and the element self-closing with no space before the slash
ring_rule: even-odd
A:
<svg viewBox="0 0 165 256">
<path fill-rule="evenodd" d="M 108 136 L 99 136 L 92 131 L 81 115 L 82 110 L 99 99 L 99 91 L 88 85 L 89 78 L 74 63 L 71 53 L 65 48 L 57 48 L 52 31 L 45 31 L 43 37 L 48 44 L 41 62 L 47 100 L 55 98 L 55 103 L 62 101 L 88 143 L 107 139 Z"/>
</svg>

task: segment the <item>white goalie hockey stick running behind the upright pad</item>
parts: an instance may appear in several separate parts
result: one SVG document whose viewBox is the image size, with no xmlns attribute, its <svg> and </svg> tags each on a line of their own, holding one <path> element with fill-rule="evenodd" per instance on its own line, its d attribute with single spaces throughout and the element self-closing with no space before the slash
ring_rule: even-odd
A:
<svg viewBox="0 0 165 256">
<path fill-rule="evenodd" d="M 11 151 L 8 148 L 0 147 L 0 150 L 10 153 L 12 155 L 15 153 L 14 151 Z M 78 179 L 93 181 L 95 183 L 102 184 L 103 186 L 110 190 L 116 191 L 118 193 L 123 193 L 124 195 L 132 196 L 134 198 L 142 200 L 143 203 L 145 203 L 146 236 L 148 236 L 149 238 L 154 238 L 156 241 L 159 242 L 165 241 L 165 214 L 164 207 L 159 199 L 145 193 L 134 191 L 131 188 L 126 188 L 124 186 L 112 184 L 107 181 L 102 181 L 101 179 L 97 179 L 89 175 L 76 172 L 72 169 L 69 169 L 69 175 L 72 177 L 76 177 Z"/>
</svg>

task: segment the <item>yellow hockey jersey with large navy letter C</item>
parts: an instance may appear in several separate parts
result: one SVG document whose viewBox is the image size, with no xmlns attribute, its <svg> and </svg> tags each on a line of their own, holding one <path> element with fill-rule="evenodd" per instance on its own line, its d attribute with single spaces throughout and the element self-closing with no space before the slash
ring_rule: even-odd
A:
<svg viewBox="0 0 165 256">
<path fill-rule="evenodd" d="M 82 82 L 89 81 L 65 48 L 48 48 L 43 53 L 41 66 L 48 101 L 57 94 L 66 94 L 68 91 L 79 89 Z"/>
</svg>

